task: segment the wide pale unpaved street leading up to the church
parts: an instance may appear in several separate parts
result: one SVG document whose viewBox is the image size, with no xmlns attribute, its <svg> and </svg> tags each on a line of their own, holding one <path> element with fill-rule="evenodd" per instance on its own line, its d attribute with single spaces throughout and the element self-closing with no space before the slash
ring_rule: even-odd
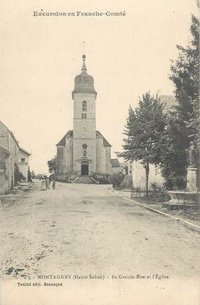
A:
<svg viewBox="0 0 200 305">
<path fill-rule="evenodd" d="M 1 279 L 28 275 L 199 275 L 199 234 L 111 186 L 34 181 L 0 204 Z M 130 195 L 128 195 L 130 196 Z"/>
</svg>

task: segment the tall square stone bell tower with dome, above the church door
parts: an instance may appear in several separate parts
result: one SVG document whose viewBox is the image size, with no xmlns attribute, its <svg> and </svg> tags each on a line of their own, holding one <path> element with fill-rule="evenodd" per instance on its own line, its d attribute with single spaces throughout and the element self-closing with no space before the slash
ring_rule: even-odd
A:
<svg viewBox="0 0 200 305">
<path fill-rule="evenodd" d="M 74 79 L 74 128 L 73 171 L 78 175 L 90 175 L 96 171 L 96 119 L 95 100 L 97 93 L 94 79 L 88 75 L 86 56 L 82 56 L 81 74 Z"/>
</svg>

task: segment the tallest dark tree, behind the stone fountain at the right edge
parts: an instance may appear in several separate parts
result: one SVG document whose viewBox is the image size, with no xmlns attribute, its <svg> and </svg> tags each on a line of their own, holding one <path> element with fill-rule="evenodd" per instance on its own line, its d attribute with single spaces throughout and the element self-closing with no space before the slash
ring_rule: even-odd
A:
<svg viewBox="0 0 200 305">
<path fill-rule="evenodd" d="M 190 141 L 199 145 L 199 20 L 194 15 L 190 32 L 191 41 L 186 48 L 177 46 L 178 59 L 171 65 L 178 105 L 168 115 L 160 163 L 168 188 L 185 188 L 187 148 Z"/>
</svg>

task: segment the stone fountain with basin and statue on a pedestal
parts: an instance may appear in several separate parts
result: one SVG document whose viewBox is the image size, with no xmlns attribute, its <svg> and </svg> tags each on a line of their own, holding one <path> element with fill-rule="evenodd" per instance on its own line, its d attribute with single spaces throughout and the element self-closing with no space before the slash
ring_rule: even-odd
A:
<svg viewBox="0 0 200 305">
<path fill-rule="evenodd" d="M 189 167 L 187 168 L 187 188 L 185 190 L 171 190 L 168 194 L 171 197 L 169 202 L 164 202 L 163 206 L 168 209 L 180 209 L 187 207 L 199 207 L 200 193 L 197 183 L 196 149 L 194 142 L 190 142 L 189 147 Z"/>
</svg>

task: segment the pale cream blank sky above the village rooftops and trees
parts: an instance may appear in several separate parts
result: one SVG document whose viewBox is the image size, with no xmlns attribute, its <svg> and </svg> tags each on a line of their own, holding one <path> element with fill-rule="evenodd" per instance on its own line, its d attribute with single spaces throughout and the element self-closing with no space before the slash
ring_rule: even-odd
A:
<svg viewBox="0 0 200 305">
<path fill-rule="evenodd" d="M 126 16 L 33 16 L 45 12 L 124 12 Z M 168 79 L 176 45 L 190 37 L 196 0 L 1 0 L 0 120 L 32 153 L 30 167 L 48 171 L 55 144 L 73 129 L 74 77 L 86 53 L 95 80 L 96 122 L 121 151 L 129 105 L 151 91 L 173 94 Z M 83 50 L 83 43 L 85 48 Z"/>
</svg>

